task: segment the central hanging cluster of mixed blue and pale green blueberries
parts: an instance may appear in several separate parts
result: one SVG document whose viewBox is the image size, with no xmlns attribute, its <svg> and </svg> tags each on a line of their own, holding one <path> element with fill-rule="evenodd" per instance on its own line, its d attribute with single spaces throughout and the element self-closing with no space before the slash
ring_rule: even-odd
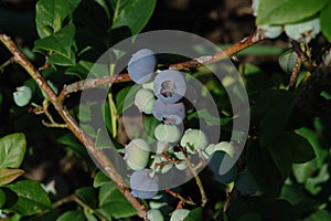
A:
<svg viewBox="0 0 331 221">
<path fill-rule="evenodd" d="M 189 157 L 194 155 L 209 159 L 217 150 L 232 157 L 235 155 L 234 147 L 209 144 L 209 137 L 200 129 L 180 130 L 186 117 L 184 103 L 181 102 L 188 87 L 185 76 L 179 71 L 157 72 L 156 69 L 157 57 L 148 49 L 136 52 L 128 63 L 131 80 L 141 85 L 135 96 L 135 105 L 141 113 L 152 115 L 160 122 L 154 128 L 154 144 L 132 138 L 125 148 L 127 166 L 135 170 L 130 177 L 130 188 L 132 194 L 140 199 L 156 197 L 159 190 L 158 173 L 188 168 L 185 154 L 174 150 L 172 147 L 175 145 L 184 148 Z M 156 150 L 152 151 L 151 145 L 156 146 Z"/>
</svg>

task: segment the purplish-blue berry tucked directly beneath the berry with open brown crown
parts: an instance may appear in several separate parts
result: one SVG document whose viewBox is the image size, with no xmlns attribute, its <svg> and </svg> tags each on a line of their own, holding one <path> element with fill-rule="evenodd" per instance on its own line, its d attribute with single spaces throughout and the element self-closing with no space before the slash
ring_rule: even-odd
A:
<svg viewBox="0 0 331 221">
<path fill-rule="evenodd" d="M 179 125 L 186 116 L 185 107 L 183 103 L 168 104 L 157 99 L 153 105 L 153 116 L 161 123 Z"/>
</svg>

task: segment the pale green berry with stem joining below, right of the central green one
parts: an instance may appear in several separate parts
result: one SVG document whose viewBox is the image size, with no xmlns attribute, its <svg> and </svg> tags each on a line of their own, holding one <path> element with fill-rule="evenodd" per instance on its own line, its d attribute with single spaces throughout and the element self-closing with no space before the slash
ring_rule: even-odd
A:
<svg viewBox="0 0 331 221">
<path fill-rule="evenodd" d="M 200 129 L 186 129 L 181 146 L 186 147 L 188 152 L 193 154 L 196 149 L 203 149 L 207 146 L 209 138 Z"/>
</svg>

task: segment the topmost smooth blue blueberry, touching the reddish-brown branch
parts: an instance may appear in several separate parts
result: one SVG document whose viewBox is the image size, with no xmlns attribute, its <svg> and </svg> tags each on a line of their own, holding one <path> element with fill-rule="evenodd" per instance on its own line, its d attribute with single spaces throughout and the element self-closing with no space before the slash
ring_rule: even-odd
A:
<svg viewBox="0 0 331 221">
<path fill-rule="evenodd" d="M 128 64 L 128 73 L 137 84 L 145 84 L 152 80 L 157 66 L 157 57 L 149 49 L 142 49 L 132 54 Z"/>
</svg>

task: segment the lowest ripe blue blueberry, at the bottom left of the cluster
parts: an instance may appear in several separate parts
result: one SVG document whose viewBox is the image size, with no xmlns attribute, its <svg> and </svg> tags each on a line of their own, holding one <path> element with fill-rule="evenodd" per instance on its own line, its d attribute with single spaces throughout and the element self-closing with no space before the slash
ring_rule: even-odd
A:
<svg viewBox="0 0 331 221">
<path fill-rule="evenodd" d="M 134 197 L 151 199 L 158 194 L 159 178 L 151 169 L 135 171 L 130 177 L 130 188 Z"/>
</svg>

